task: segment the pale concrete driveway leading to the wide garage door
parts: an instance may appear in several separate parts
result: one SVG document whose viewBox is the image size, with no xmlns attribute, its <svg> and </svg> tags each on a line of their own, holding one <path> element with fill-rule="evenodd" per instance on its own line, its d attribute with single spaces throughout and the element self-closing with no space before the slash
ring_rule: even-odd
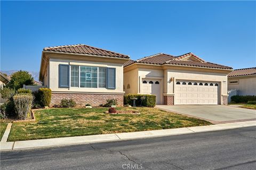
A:
<svg viewBox="0 0 256 170">
<path fill-rule="evenodd" d="M 156 105 L 157 108 L 197 117 L 214 124 L 256 120 L 256 111 L 223 105 Z"/>
</svg>

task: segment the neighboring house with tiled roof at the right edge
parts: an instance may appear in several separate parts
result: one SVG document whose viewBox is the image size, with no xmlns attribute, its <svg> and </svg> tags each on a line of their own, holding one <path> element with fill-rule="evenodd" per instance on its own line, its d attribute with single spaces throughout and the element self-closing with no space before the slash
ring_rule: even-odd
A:
<svg viewBox="0 0 256 170">
<path fill-rule="evenodd" d="M 237 69 L 228 74 L 228 90 L 237 90 L 237 95 L 256 95 L 256 67 Z"/>
</svg>

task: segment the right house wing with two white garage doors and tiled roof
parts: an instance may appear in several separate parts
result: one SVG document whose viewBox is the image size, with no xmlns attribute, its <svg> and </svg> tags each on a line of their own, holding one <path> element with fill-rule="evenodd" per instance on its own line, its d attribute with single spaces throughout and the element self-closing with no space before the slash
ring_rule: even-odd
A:
<svg viewBox="0 0 256 170">
<path fill-rule="evenodd" d="M 188 53 L 155 54 L 124 64 L 125 94 L 153 94 L 156 104 L 227 105 L 231 67 Z"/>
</svg>

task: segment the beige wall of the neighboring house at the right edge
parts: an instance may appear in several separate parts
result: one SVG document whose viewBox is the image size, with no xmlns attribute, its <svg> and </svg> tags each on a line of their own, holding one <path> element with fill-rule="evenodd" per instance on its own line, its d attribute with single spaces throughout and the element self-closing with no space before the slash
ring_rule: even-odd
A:
<svg viewBox="0 0 256 170">
<path fill-rule="evenodd" d="M 256 76 L 228 78 L 229 81 L 238 80 L 238 84 L 229 84 L 228 90 L 238 90 L 238 95 L 256 95 Z"/>
</svg>

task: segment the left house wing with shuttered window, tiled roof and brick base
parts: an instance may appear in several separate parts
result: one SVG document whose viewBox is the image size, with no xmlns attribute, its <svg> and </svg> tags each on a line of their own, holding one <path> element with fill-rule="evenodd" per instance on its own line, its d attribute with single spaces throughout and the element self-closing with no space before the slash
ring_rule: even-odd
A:
<svg viewBox="0 0 256 170">
<path fill-rule="evenodd" d="M 123 106 L 123 64 L 130 57 L 83 44 L 46 47 L 39 81 L 52 90 L 51 106 L 74 99 L 78 106 L 117 99 Z"/>
</svg>

